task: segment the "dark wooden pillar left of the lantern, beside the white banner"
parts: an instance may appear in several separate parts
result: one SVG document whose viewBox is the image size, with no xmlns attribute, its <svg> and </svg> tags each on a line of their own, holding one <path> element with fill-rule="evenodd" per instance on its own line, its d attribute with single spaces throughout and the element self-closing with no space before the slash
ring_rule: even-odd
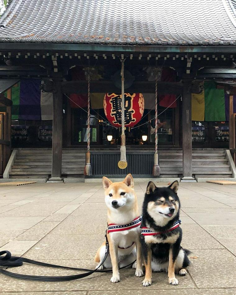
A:
<svg viewBox="0 0 236 295">
<path fill-rule="evenodd" d="M 52 122 L 52 177 L 49 181 L 62 181 L 62 91 L 61 80 L 53 81 L 53 122 Z"/>
</svg>

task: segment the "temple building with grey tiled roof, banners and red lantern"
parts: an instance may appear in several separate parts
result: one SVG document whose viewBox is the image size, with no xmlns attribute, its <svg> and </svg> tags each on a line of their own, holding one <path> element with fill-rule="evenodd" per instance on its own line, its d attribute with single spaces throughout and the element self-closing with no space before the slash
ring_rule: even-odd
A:
<svg viewBox="0 0 236 295">
<path fill-rule="evenodd" d="M 0 175 L 235 178 L 235 3 L 9 1 L 0 19 Z"/>
</svg>

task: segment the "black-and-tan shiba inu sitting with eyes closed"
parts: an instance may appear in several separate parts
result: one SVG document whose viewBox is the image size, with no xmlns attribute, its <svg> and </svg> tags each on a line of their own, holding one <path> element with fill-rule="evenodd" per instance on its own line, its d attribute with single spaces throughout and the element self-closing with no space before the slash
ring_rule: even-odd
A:
<svg viewBox="0 0 236 295">
<path fill-rule="evenodd" d="M 152 270 L 168 272 L 169 283 L 178 285 L 175 272 L 187 274 L 191 252 L 181 247 L 182 230 L 179 227 L 180 202 L 177 196 L 178 181 L 169 187 L 147 185 L 143 202 L 141 245 L 146 269 L 143 286 L 152 284 Z"/>
</svg>

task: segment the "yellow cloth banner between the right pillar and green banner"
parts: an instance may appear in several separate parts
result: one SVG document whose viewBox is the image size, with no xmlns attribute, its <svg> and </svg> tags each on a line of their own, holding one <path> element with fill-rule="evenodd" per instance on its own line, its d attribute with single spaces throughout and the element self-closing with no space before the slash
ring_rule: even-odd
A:
<svg viewBox="0 0 236 295">
<path fill-rule="evenodd" d="M 204 121 L 205 98 L 204 91 L 200 94 L 192 93 L 192 121 Z"/>
</svg>

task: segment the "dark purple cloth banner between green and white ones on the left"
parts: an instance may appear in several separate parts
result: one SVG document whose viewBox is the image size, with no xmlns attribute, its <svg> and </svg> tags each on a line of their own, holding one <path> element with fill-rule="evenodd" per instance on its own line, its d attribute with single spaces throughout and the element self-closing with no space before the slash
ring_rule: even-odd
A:
<svg viewBox="0 0 236 295">
<path fill-rule="evenodd" d="M 19 120 L 41 120 L 41 80 L 20 80 Z"/>
</svg>

